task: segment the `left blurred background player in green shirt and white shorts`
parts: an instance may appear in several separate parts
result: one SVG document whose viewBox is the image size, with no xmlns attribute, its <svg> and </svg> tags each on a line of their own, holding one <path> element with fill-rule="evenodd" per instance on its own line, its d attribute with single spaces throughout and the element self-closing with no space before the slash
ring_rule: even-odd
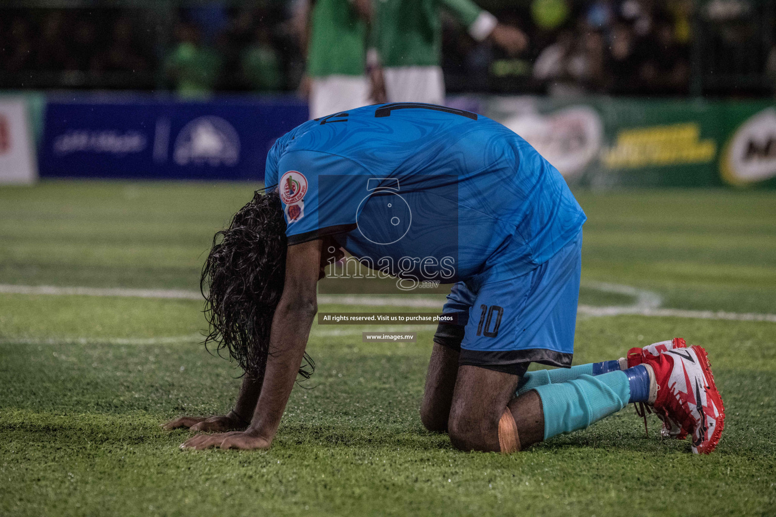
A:
<svg viewBox="0 0 776 517">
<path fill-rule="evenodd" d="M 301 0 L 296 26 L 307 51 L 307 75 L 300 91 L 310 119 L 369 105 L 365 76 L 370 0 Z"/>
</svg>

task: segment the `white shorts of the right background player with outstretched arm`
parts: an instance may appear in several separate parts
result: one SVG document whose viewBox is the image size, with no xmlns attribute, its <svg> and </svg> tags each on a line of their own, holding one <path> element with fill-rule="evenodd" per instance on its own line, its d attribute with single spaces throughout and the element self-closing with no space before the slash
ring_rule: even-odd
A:
<svg viewBox="0 0 776 517">
<path fill-rule="evenodd" d="M 388 102 L 445 104 L 441 67 L 386 67 L 383 77 Z"/>
</svg>

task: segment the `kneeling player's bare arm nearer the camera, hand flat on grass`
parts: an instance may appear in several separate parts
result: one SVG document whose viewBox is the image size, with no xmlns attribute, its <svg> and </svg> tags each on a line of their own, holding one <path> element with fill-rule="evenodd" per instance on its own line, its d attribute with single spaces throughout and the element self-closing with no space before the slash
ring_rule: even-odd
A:
<svg viewBox="0 0 776 517">
<path fill-rule="evenodd" d="M 267 367 L 251 425 L 233 433 L 199 434 L 182 448 L 268 449 L 272 444 L 317 312 L 321 246 L 320 240 L 289 246 L 286 284 L 272 319 Z"/>
</svg>

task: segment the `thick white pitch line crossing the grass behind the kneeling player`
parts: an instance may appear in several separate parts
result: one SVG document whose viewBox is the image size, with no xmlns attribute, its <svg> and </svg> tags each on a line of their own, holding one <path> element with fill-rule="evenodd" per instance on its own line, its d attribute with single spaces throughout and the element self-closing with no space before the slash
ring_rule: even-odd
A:
<svg viewBox="0 0 776 517">
<path fill-rule="evenodd" d="M 584 287 L 595 289 L 597 291 L 629 295 L 635 298 L 635 301 L 632 305 L 579 305 L 577 308 L 578 314 L 587 317 L 640 315 L 776 323 L 776 314 L 660 308 L 660 305 L 663 302 L 662 298 L 660 298 L 660 295 L 657 295 L 652 291 L 634 288 L 629 285 L 609 284 L 606 282 L 586 282 L 584 283 Z M 182 289 L 68 288 L 51 285 L 33 286 L 0 284 L 0 294 L 2 293 L 16 295 L 82 295 L 133 298 L 175 298 L 185 300 L 202 299 L 202 295 L 199 292 L 185 291 Z M 368 307 L 412 307 L 441 309 L 443 300 L 442 298 L 408 296 L 320 295 L 318 297 L 318 303 L 331 305 L 361 305 Z"/>
</svg>

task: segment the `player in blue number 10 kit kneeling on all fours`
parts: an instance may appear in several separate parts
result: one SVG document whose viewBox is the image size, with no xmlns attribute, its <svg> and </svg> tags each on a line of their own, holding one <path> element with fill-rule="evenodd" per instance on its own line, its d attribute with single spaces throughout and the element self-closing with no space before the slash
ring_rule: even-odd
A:
<svg viewBox="0 0 776 517">
<path fill-rule="evenodd" d="M 586 217 L 558 171 L 497 122 L 414 103 L 336 113 L 282 136 L 265 183 L 203 270 L 209 339 L 244 382 L 227 415 L 165 425 L 218 432 L 182 447 L 271 445 L 308 374 L 317 281 L 342 249 L 403 289 L 454 284 L 421 420 L 460 450 L 518 451 L 629 402 L 696 453 L 719 442 L 725 415 L 701 347 L 673 339 L 571 367 Z M 561 368 L 528 372 L 532 362 Z"/>
</svg>

